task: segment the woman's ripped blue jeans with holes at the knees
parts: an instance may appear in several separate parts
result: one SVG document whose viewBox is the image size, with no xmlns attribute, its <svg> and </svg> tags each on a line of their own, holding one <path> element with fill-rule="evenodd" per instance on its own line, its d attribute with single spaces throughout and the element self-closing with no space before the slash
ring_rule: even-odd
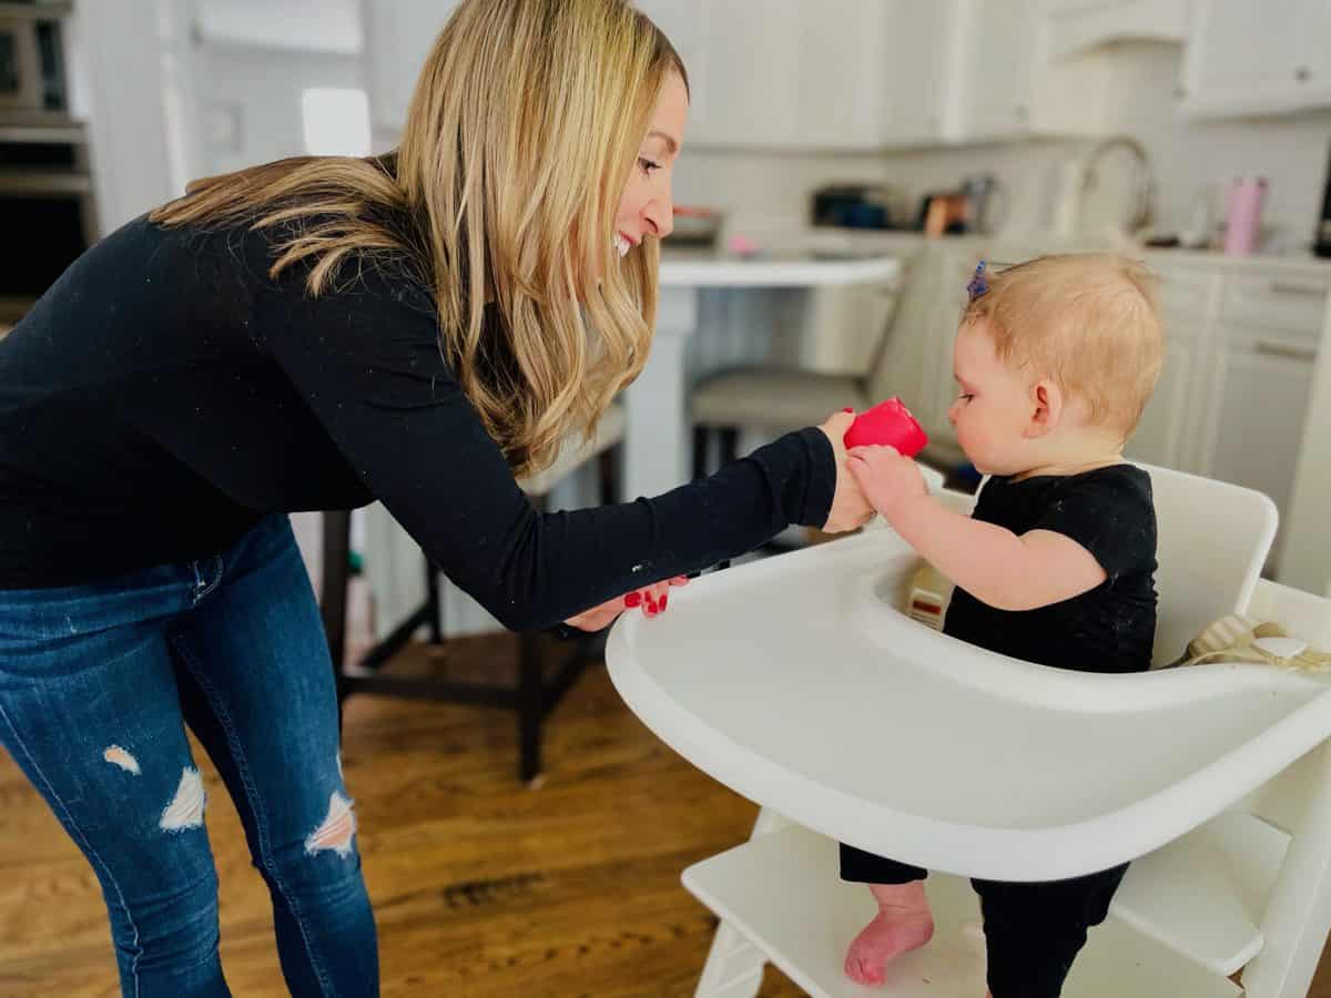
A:
<svg viewBox="0 0 1331 998">
<path fill-rule="evenodd" d="M 290 523 L 105 583 L 0 589 L 0 744 L 96 870 L 132 998 L 226 995 L 194 732 L 291 994 L 378 994 L 327 644 Z"/>
</svg>

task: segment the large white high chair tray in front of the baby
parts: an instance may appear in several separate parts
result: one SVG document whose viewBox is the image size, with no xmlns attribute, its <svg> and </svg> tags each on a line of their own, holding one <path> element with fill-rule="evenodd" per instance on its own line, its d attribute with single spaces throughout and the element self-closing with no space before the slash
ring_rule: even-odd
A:
<svg viewBox="0 0 1331 998">
<path fill-rule="evenodd" d="M 630 708 L 800 825 L 948 873 L 1058 880 L 1173 841 L 1331 736 L 1331 688 L 1244 664 L 1126 676 L 1018 661 L 896 607 L 869 531 L 704 576 L 607 647 Z"/>
</svg>

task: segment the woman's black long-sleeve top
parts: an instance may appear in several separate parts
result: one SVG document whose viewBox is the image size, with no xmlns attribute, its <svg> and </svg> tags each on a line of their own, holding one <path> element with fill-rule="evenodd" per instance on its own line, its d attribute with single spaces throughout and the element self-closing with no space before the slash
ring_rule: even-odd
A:
<svg viewBox="0 0 1331 998">
<path fill-rule="evenodd" d="M 431 294 L 363 266 L 311 298 L 270 237 L 140 218 L 0 341 L 0 588 L 216 554 L 274 512 L 382 500 L 503 624 L 821 526 L 827 438 L 789 434 L 666 495 L 538 514 L 445 362 Z"/>
</svg>

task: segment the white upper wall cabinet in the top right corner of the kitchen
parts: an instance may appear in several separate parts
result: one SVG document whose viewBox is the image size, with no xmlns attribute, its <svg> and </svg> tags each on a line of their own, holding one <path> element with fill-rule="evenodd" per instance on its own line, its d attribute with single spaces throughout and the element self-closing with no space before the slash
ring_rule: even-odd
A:
<svg viewBox="0 0 1331 998">
<path fill-rule="evenodd" d="M 1182 110 L 1240 117 L 1331 105 L 1326 0 L 1195 0 Z"/>
</svg>

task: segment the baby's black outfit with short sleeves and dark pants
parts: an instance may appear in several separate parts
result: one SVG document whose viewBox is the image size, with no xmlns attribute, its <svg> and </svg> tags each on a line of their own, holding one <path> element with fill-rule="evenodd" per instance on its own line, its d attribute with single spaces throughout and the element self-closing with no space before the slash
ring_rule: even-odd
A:
<svg viewBox="0 0 1331 998">
<path fill-rule="evenodd" d="M 1131 464 L 1081 475 L 990 479 L 974 519 L 1014 534 L 1047 530 L 1090 551 L 1106 579 L 1047 607 L 1004 611 L 958 588 L 944 633 L 1016 659 L 1081 672 L 1143 672 L 1155 639 L 1155 508 Z M 1047 884 L 973 880 L 994 998 L 1057 998 L 1086 930 L 1105 921 L 1126 864 Z M 909 884 L 926 870 L 841 846 L 841 878 Z"/>
</svg>

